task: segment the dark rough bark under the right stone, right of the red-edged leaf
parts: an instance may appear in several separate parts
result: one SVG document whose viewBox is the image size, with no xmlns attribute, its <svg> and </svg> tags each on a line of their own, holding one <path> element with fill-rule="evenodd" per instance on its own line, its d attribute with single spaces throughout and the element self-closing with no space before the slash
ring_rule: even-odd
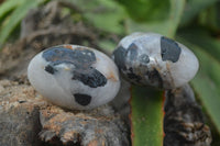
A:
<svg viewBox="0 0 220 146">
<path fill-rule="evenodd" d="M 165 146 L 210 146 L 211 132 L 189 85 L 166 91 L 166 98 Z"/>
</svg>

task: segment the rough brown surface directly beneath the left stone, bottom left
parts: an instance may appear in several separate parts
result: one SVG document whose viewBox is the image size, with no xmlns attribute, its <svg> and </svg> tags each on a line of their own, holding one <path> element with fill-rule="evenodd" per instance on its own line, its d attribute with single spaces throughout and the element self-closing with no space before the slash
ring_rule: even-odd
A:
<svg viewBox="0 0 220 146">
<path fill-rule="evenodd" d="M 129 128 L 110 105 L 67 111 L 29 85 L 0 81 L 0 145 L 129 146 Z"/>
</svg>

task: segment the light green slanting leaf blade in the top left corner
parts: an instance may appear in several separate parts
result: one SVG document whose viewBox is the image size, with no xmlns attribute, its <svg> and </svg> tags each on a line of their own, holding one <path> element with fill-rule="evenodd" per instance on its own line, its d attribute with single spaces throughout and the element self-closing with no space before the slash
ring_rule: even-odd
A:
<svg viewBox="0 0 220 146">
<path fill-rule="evenodd" d="M 9 37 L 11 32 L 15 29 L 16 25 L 21 22 L 21 20 L 25 16 L 28 11 L 32 8 L 37 7 L 42 3 L 43 0 L 25 0 L 18 7 L 11 15 L 8 18 L 7 22 L 1 26 L 0 30 L 0 45 L 2 45 L 6 40 Z"/>
</svg>

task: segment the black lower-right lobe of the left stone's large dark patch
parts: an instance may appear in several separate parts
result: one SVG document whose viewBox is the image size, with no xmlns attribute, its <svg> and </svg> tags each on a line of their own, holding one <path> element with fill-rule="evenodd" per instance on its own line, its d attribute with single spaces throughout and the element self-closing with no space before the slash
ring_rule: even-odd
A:
<svg viewBox="0 0 220 146">
<path fill-rule="evenodd" d="M 91 88 L 101 87 L 107 83 L 107 78 L 95 68 L 90 68 L 87 71 L 74 70 L 72 79 L 80 80 L 84 85 Z"/>
</svg>

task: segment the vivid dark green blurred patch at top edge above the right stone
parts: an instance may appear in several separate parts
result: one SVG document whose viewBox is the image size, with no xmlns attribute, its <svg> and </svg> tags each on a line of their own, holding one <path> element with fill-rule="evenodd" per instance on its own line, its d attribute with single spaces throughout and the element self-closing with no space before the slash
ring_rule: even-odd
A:
<svg viewBox="0 0 220 146">
<path fill-rule="evenodd" d="M 138 22 L 161 21 L 168 16 L 169 0 L 118 0 Z"/>
</svg>

